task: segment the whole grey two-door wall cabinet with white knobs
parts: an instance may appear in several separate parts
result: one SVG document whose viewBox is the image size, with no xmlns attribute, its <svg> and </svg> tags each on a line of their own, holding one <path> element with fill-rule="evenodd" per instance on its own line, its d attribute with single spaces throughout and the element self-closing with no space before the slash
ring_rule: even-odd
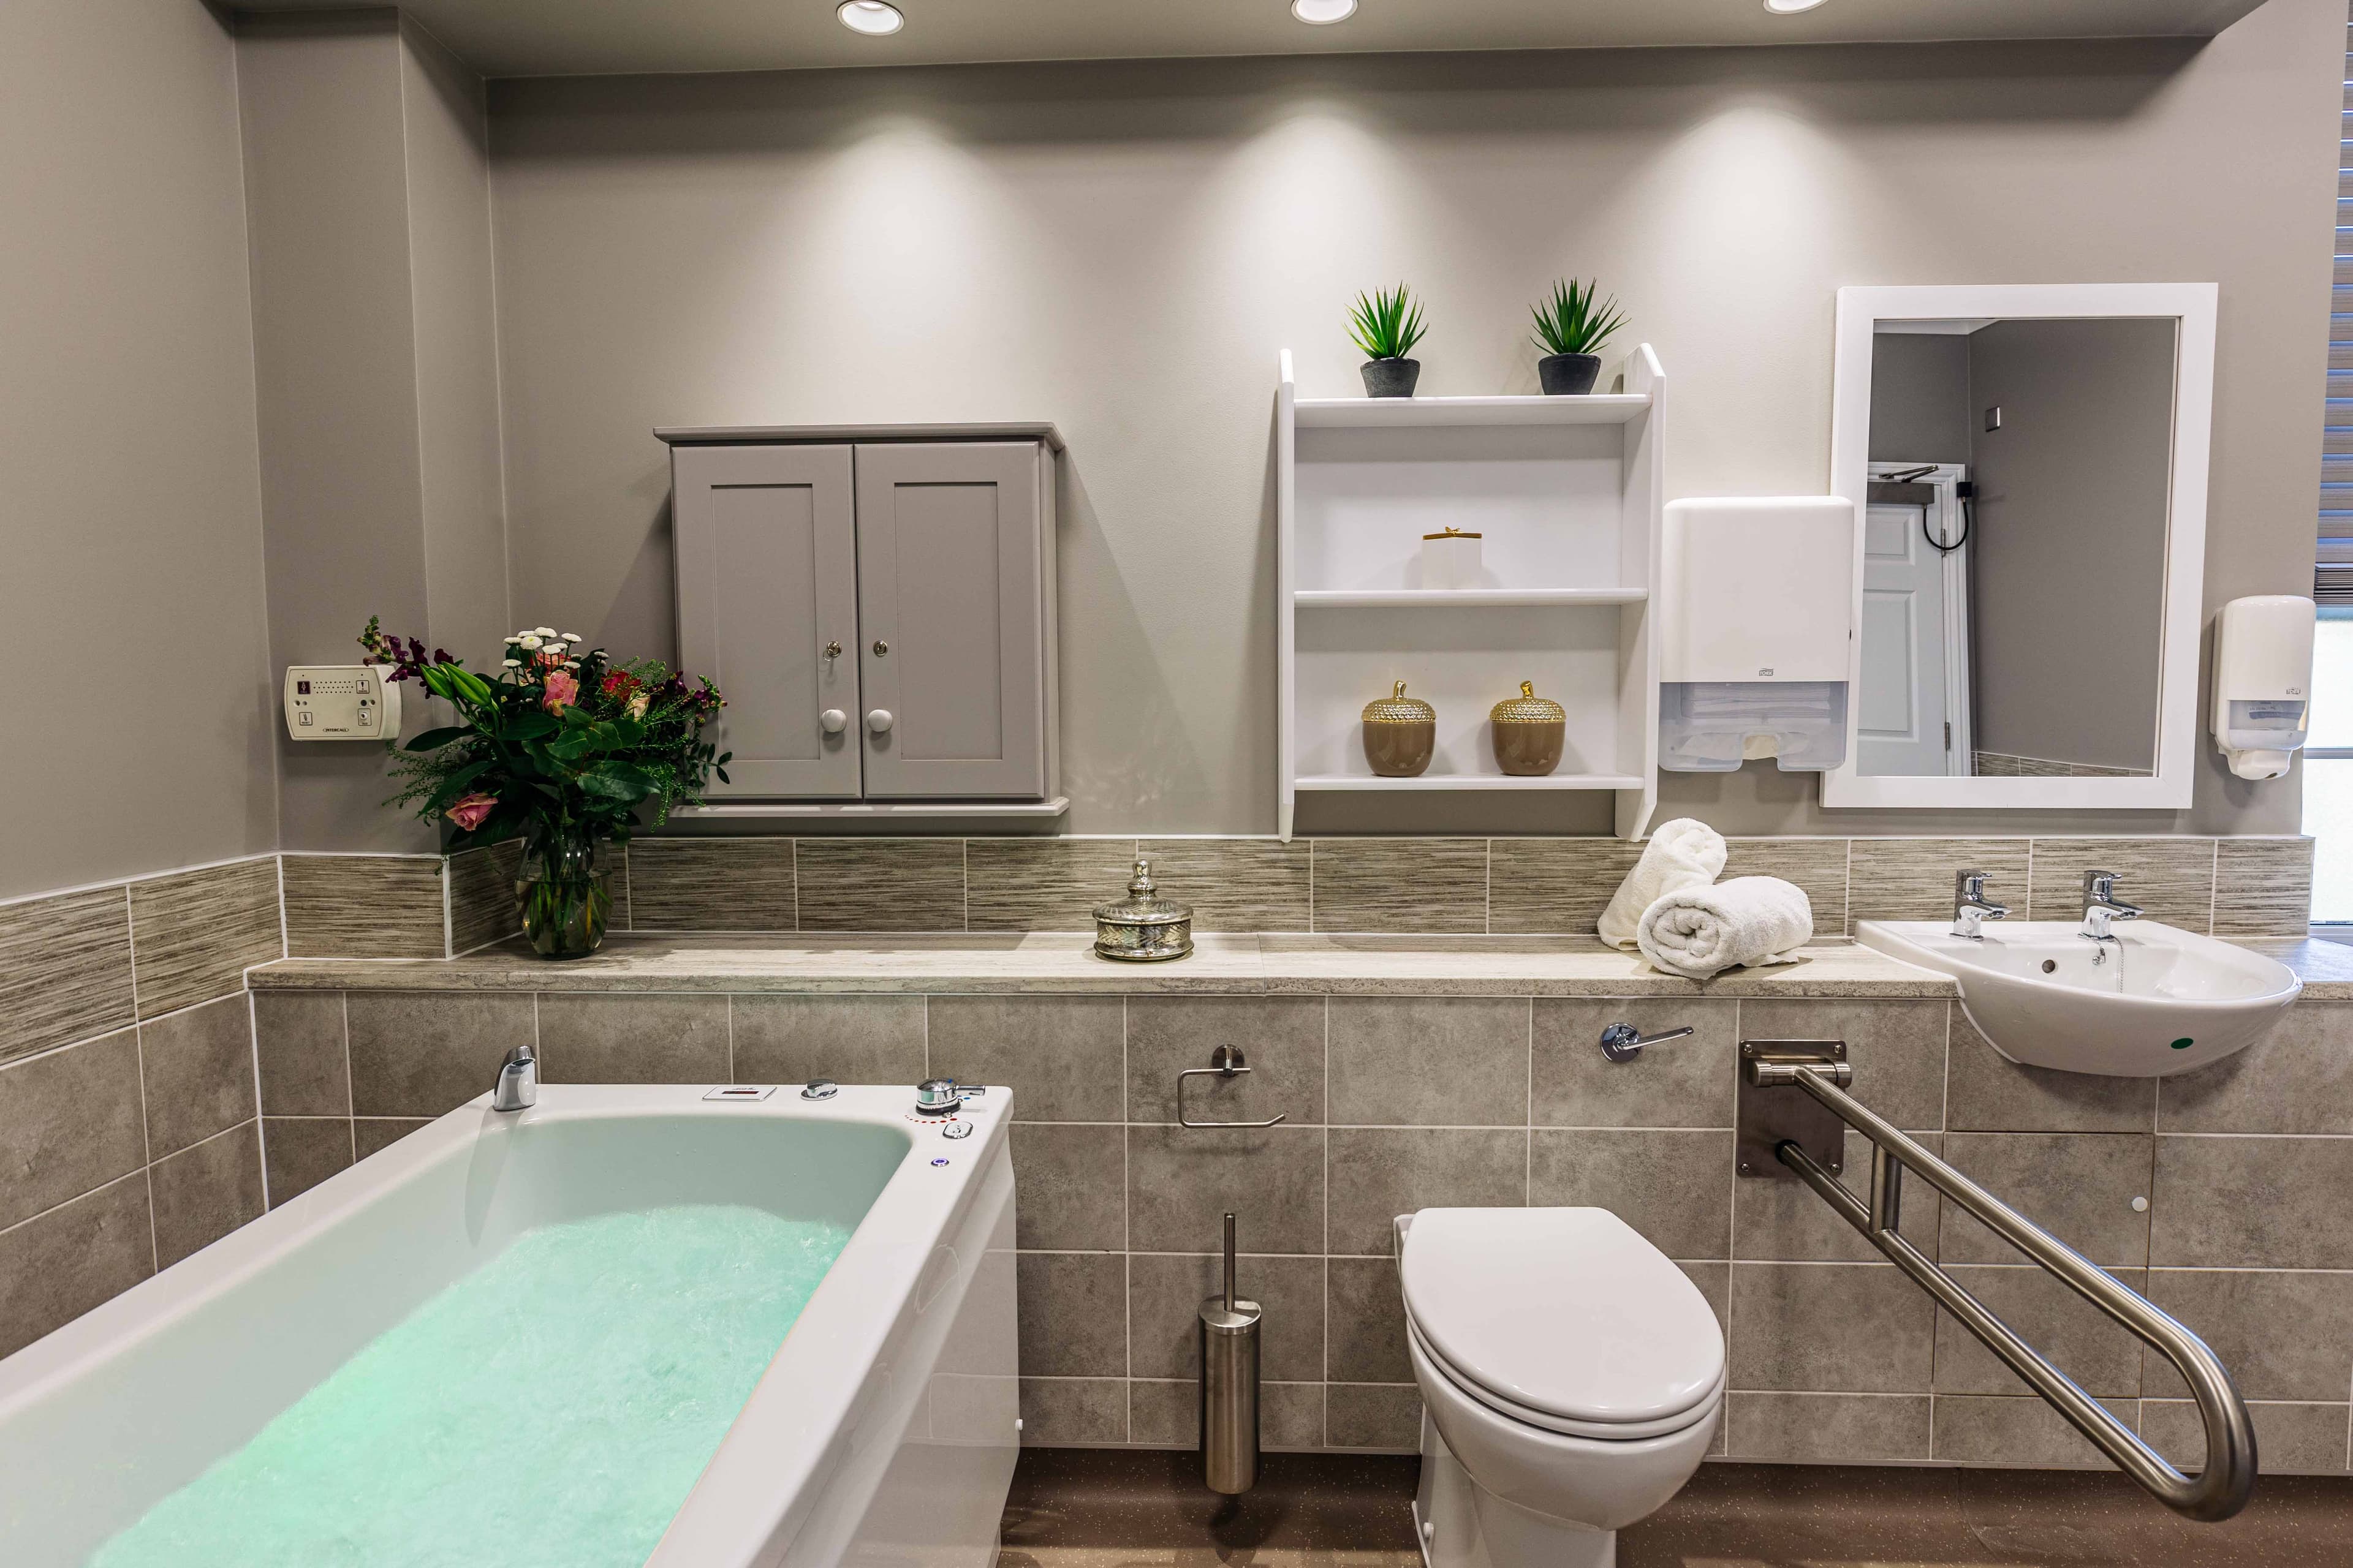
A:
<svg viewBox="0 0 2353 1568">
<path fill-rule="evenodd" d="M 659 435 L 680 658 L 727 693 L 713 802 L 1056 795 L 1049 428 Z"/>
</svg>

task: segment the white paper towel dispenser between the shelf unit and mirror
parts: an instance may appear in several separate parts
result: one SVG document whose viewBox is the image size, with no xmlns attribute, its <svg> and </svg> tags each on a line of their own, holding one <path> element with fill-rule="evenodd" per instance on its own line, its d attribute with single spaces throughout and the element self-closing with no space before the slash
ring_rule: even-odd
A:
<svg viewBox="0 0 2353 1568">
<path fill-rule="evenodd" d="M 1854 503 L 1668 501 L 1659 538 L 1659 766 L 1847 759 Z"/>
</svg>

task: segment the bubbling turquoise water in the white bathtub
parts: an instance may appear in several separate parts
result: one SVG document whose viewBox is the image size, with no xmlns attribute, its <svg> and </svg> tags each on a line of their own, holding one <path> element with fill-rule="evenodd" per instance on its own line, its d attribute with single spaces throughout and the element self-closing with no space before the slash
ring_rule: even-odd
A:
<svg viewBox="0 0 2353 1568">
<path fill-rule="evenodd" d="M 739 1206 L 527 1232 L 89 1568 L 638 1568 L 847 1241 Z"/>
</svg>

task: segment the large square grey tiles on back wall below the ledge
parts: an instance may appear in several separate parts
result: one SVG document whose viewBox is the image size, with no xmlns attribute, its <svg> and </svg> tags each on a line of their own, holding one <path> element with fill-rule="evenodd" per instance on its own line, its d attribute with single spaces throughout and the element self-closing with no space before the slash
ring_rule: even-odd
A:
<svg viewBox="0 0 2353 1568">
<path fill-rule="evenodd" d="M 1005 1081 L 1033 1443 L 1193 1436 L 1193 1309 L 1219 1215 L 1266 1305 L 1266 1436 L 1409 1448 L 1417 1394 L 1391 1215 L 1600 1204 L 1715 1305 L 1718 1450 L 1784 1460 L 2099 1462 L 1793 1180 L 1732 1171 L 1741 1037 L 1842 1037 L 1857 1093 L 2202 1333 L 2254 1406 L 2264 1467 L 2341 1472 L 2353 1422 L 2353 1004 L 2304 1001 L 2179 1079 L 2017 1067 L 1944 1001 L 1412 997 L 259 994 L 271 1192 L 478 1095 L 536 1039 L 548 1081 Z M 1609 1065 L 1605 1023 L 1692 1039 Z M 1242 1044 L 1252 1077 L 1179 1067 Z M 304 1171 L 278 1150 L 308 1126 Z M 1864 1152 L 1849 1145 L 1849 1178 Z M 2134 1211 L 2132 1199 L 2148 1208 Z M 1913 1185 L 1904 1229 L 2177 1460 L 2172 1371 Z"/>
</svg>

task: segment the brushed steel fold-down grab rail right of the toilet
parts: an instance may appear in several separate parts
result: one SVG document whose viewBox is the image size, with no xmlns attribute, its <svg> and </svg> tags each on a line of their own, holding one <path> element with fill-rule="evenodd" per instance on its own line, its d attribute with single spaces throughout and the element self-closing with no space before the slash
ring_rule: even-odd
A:
<svg viewBox="0 0 2353 1568">
<path fill-rule="evenodd" d="M 1967 1175 L 1944 1164 L 1913 1138 L 1880 1119 L 1868 1105 L 1838 1086 L 1847 1077 L 1845 1063 L 1807 1065 L 1791 1060 L 1744 1063 L 1748 1081 L 1758 1088 L 1793 1086 L 1819 1100 L 1831 1114 L 1871 1140 L 1871 1199 L 1864 1201 L 1831 1175 L 1821 1161 L 1795 1140 L 1784 1138 L 1774 1154 L 1795 1171 L 1847 1225 L 1859 1229 L 1871 1246 L 1880 1248 L 1889 1262 L 1904 1269 L 1913 1284 L 1937 1298 L 1960 1324 L 1974 1333 L 1986 1349 L 2000 1356 L 2009 1371 L 2024 1378 L 2042 1399 L 2066 1415 L 2068 1425 L 2099 1446 L 2115 1467 L 2139 1481 L 2165 1507 L 2191 1519 L 2228 1519 L 2247 1507 L 2254 1490 L 2254 1422 L 2247 1403 L 2238 1396 L 2231 1373 L 2207 1349 L 2205 1340 L 2160 1312 L 2137 1291 L 2125 1288 L 2082 1253 L 2059 1241 L 2054 1234 L 2000 1201 Z M 2205 1422 L 2207 1462 L 2198 1476 L 2174 1469 L 2165 1455 L 2144 1443 L 2132 1427 L 2115 1420 L 2085 1394 L 2057 1366 L 2021 1340 L 2009 1324 L 1998 1319 L 1984 1302 L 1953 1284 L 1953 1276 L 1927 1260 L 1911 1241 L 1897 1234 L 1904 1206 L 1904 1168 L 1911 1166 L 1927 1185 L 1977 1215 L 1993 1234 L 2019 1248 L 2045 1272 L 2057 1274 L 2064 1286 L 2129 1328 L 2144 1345 L 2162 1352 L 2167 1361 L 2191 1385 L 2198 1399 L 2198 1415 Z"/>
</svg>

